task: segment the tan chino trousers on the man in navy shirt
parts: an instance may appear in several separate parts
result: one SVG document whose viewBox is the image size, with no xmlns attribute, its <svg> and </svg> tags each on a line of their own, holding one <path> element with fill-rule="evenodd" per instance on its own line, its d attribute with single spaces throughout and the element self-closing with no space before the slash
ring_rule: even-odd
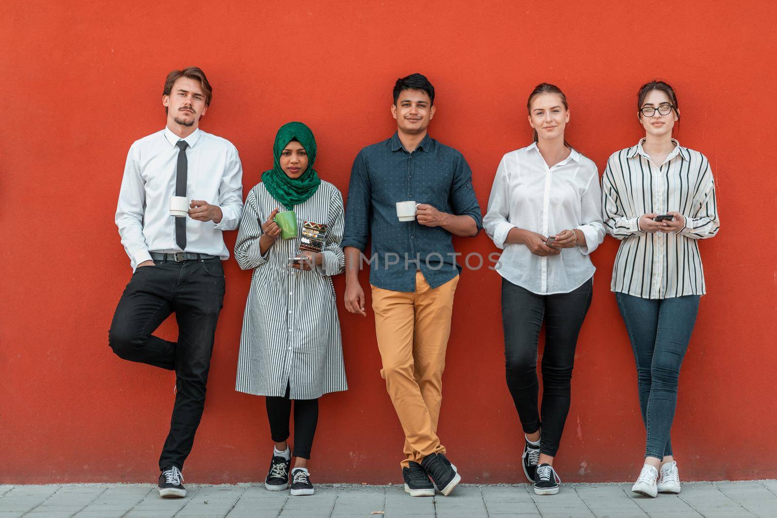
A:
<svg viewBox="0 0 777 518">
<path fill-rule="evenodd" d="M 415 292 L 372 286 L 381 376 L 405 432 L 402 468 L 409 461 L 420 463 L 427 455 L 445 453 L 437 419 L 457 284 L 458 275 L 433 290 L 419 270 Z"/>
</svg>

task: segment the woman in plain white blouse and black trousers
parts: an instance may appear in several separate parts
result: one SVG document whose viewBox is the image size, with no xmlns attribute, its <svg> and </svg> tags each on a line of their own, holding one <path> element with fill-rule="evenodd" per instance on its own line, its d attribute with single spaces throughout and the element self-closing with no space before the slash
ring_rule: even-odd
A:
<svg viewBox="0 0 777 518">
<path fill-rule="evenodd" d="M 507 387 L 526 434 L 523 466 L 538 495 L 559 492 L 553 459 L 570 408 L 577 335 L 591 305 L 589 254 L 605 237 L 594 162 L 564 140 L 566 96 L 542 83 L 528 99 L 534 143 L 504 155 L 483 227 L 504 252 L 502 323 Z M 545 321 L 543 396 L 537 347 Z M 542 426 L 540 426 L 542 422 Z"/>
</svg>

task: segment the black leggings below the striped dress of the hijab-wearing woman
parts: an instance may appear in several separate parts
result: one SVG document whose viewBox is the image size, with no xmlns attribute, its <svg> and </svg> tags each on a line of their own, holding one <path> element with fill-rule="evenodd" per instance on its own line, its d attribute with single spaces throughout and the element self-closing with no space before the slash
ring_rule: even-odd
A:
<svg viewBox="0 0 777 518">
<path fill-rule="evenodd" d="M 282 443 L 289 438 L 291 399 L 288 386 L 283 398 L 267 396 L 264 400 L 267 405 L 267 418 L 270 419 L 270 433 L 276 443 Z M 318 422 L 318 399 L 294 399 L 294 457 L 310 458 Z"/>
</svg>

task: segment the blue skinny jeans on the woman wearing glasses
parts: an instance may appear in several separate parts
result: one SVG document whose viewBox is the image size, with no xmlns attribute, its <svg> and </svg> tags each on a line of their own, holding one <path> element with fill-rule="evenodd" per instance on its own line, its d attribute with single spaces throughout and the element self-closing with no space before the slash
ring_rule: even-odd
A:
<svg viewBox="0 0 777 518">
<path fill-rule="evenodd" d="M 669 432 L 678 400 L 680 366 L 691 339 L 699 295 L 648 299 L 616 293 L 632 342 L 639 408 L 647 432 L 645 457 L 672 454 Z"/>
</svg>

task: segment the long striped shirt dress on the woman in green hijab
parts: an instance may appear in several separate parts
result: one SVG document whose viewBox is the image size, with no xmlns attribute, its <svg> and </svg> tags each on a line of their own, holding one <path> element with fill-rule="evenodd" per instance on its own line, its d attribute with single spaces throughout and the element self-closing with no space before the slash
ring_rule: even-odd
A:
<svg viewBox="0 0 777 518">
<path fill-rule="evenodd" d="M 322 264 L 310 271 L 287 266 L 299 238 L 277 238 L 260 254 L 261 225 L 277 207 L 263 183 L 246 197 L 235 243 L 240 268 L 253 269 L 243 315 L 235 390 L 253 395 L 315 399 L 347 390 L 343 342 L 331 277 L 345 266 L 343 196 L 322 180 L 315 194 L 294 206 L 298 236 L 303 221 L 326 224 Z"/>
</svg>

